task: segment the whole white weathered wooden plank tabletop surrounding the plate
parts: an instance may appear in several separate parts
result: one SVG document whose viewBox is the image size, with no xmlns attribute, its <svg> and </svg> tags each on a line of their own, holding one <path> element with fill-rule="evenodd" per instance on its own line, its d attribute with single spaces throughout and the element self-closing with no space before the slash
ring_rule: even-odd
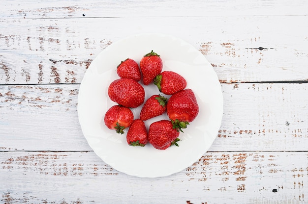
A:
<svg viewBox="0 0 308 204">
<path fill-rule="evenodd" d="M 95 56 L 123 37 L 182 38 L 213 65 L 222 124 L 200 160 L 125 175 L 77 115 Z M 307 204 L 306 0 L 1 0 L 0 203 Z"/>
</svg>

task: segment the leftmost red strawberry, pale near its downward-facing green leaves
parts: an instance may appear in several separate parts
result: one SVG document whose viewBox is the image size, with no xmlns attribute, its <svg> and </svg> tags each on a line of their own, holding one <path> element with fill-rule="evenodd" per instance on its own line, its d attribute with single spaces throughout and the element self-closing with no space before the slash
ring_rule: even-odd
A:
<svg viewBox="0 0 308 204">
<path fill-rule="evenodd" d="M 134 120 L 132 111 L 121 105 L 110 107 L 105 113 L 104 122 L 107 128 L 116 129 L 117 133 L 124 133 L 124 129 L 128 128 Z"/>
</svg>

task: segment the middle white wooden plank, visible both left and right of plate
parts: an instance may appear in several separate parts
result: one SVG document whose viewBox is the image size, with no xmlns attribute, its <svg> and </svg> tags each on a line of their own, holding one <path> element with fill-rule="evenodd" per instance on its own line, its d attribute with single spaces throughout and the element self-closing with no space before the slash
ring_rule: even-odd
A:
<svg viewBox="0 0 308 204">
<path fill-rule="evenodd" d="M 307 151 L 308 83 L 221 87 L 224 114 L 210 151 Z M 0 86 L 0 150 L 90 151 L 78 122 L 78 89 Z"/>
</svg>

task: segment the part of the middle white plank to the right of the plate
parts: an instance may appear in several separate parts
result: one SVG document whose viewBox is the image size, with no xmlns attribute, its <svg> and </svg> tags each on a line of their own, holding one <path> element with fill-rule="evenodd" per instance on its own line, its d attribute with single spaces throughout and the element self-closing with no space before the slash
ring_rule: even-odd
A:
<svg viewBox="0 0 308 204">
<path fill-rule="evenodd" d="M 222 91 L 222 125 L 211 150 L 307 150 L 307 83 L 229 84 Z"/>
</svg>

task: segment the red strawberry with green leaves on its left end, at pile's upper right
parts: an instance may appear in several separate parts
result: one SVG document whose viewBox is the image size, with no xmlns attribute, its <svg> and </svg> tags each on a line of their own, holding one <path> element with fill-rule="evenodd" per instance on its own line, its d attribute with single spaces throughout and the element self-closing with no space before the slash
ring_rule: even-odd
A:
<svg viewBox="0 0 308 204">
<path fill-rule="evenodd" d="M 154 84 L 159 91 L 166 95 L 172 95 L 185 89 L 187 83 L 184 77 L 178 73 L 164 71 L 154 78 Z"/>
</svg>

